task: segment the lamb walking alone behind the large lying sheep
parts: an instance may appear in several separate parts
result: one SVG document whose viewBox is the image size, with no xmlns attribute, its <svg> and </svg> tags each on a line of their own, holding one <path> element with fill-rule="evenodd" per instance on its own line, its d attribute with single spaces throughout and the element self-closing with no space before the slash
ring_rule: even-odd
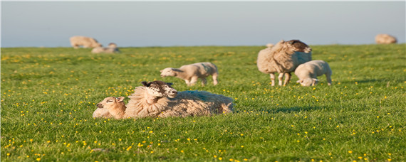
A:
<svg viewBox="0 0 406 162">
<path fill-rule="evenodd" d="M 213 63 L 194 63 L 183 65 L 180 68 L 165 68 L 160 72 L 161 77 L 178 77 L 184 80 L 187 86 L 194 85 L 198 78 L 202 80 L 202 86 L 204 86 L 207 84 L 206 77 L 209 75 L 213 77 L 213 85 L 217 85 L 217 76 L 219 75 L 217 66 Z"/>
</svg>

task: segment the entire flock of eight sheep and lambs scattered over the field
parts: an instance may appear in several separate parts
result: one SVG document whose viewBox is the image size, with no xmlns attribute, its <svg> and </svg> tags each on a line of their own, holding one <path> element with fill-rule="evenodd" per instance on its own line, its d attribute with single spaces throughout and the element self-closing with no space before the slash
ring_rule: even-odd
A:
<svg viewBox="0 0 406 162">
<path fill-rule="evenodd" d="M 73 36 L 73 48 L 83 45 L 84 48 L 93 48 L 92 53 L 118 53 L 115 43 L 103 48 L 94 38 Z M 378 44 L 396 43 L 396 38 L 387 34 L 375 37 Z M 258 70 L 269 74 L 271 86 L 275 85 L 275 73 L 279 73 L 279 85 L 288 84 L 291 72 L 298 77 L 302 86 L 314 86 L 318 83 L 318 76 L 326 75 L 328 85 L 331 85 L 332 70 L 323 60 L 312 60 L 312 49 L 298 40 L 279 41 L 276 45 L 267 44 L 267 48 L 259 51 L 257 58 Z M 217 85 L 219 74 L 217 66 L 213 63 L 194 63 L 183 65 L 180 68 L 165 68 L 160 70 L 161 77 L 178 77 L 188 86 L 194 85 L 198 79 L 202 85 L 207 84 L 206 77 L 212 75 L 213 84 Z M 125 97 L 106 97 L 97 104 L 98 109 L 93 112 L 94 118 L 137 119 L 142 117 L 189 117 L 223 114 L 233 111 L 233 99 L 223 95 L 216 95 L 205 91 L 177 92 L 172 83 L 153 81 L 142 82 L 142 86 L 135 87 L 135 92 Z"/>
</svg>

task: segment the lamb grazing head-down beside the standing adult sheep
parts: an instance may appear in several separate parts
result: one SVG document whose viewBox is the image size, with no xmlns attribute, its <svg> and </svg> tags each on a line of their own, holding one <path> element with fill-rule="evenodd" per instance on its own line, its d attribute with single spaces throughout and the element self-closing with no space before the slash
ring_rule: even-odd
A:
<svg viewBox="0 0 406 162">
<path fill-rule="evenodd" d="M 319 81 L 318 76 L 326 75 L 328 85 L 331 85 L 331 71 L 330 65 L 323 60 L 312 60 L 307 63 L 303 63 L 295 70 L 295 75 L 298 76 L 297 81 L 302 86 L 314 86 Z"/>
</svg>

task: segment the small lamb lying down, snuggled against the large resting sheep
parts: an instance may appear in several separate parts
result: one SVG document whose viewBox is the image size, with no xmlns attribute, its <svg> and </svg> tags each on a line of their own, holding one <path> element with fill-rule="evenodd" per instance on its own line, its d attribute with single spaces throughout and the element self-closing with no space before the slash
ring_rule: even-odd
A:
<svg viewBox="0 0 406 162">
<path fill-rule="evenodd" d="M 125 113 L 124 97 L 106 97 L 97 105 L 98 109 L 93 112 L 94 118 L 110 118 L 122 119 Z"/>
</svg>

